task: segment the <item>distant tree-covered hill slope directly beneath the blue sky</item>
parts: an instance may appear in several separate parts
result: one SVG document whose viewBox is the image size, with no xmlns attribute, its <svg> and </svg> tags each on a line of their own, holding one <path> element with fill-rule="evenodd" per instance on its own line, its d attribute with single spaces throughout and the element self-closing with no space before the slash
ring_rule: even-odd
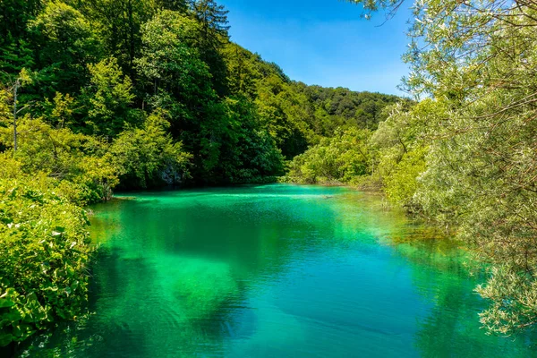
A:
<svg viewBox="0 0 537 358">
<path fill-rule="evenodd" d="M 323 89 L 290 81 L 277 66 L 233 43 L 224 49 L 230 90 L 250 98 L 287 159 L 303 153 L 337 128 L 375 130 L 384 107 L 400 98 L 379 93 Z"/>
</svg>

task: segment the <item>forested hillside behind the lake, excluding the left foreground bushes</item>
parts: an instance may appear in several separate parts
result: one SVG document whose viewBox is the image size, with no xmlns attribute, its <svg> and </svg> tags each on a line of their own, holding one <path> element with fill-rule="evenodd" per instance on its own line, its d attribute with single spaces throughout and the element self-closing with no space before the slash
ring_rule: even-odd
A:
<svg viewBox="0 0 537 358">
<path fill-rule="evenodd" d="M 48 126 L 52 138 L 66 130 L 97 139 L 114 154 L 124 188 L 281 175 L 284 158 L 339 126 L 376 128 L 382 108 L 397 99 L 290 81 L 276 64 L 230 42 L 226 11 L 210 1 L 2 6 L 6 111 L 15 109 L 16 94 L 21 126 Z M 3 115 L 5 128 L 12 117 Z M 173 142 L 166 158 L 140 150 L 158 140 L 143 134 L 152 128 Z M 139 142 L 132 131 L 142 131 Z M 12 132 L 4 131 L 4 150 L 13 147 Z M 24 131 L 18 134 L 19 156 L 35 149 Z"/>
</svg>

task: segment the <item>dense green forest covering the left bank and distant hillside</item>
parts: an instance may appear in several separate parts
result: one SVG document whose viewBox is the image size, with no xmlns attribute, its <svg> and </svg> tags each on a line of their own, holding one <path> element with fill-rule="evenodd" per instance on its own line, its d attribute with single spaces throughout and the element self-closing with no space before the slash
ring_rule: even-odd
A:
<svg viewBox="0 0 537 358">
<path fill-rule="evenodd" d="M 274 182 L 400 99 L 291 81 L 228 29 L 210 0 L 0 3 L 0 346 L 83 313 L 84 206 L 114 189 Z"/>
</svg>

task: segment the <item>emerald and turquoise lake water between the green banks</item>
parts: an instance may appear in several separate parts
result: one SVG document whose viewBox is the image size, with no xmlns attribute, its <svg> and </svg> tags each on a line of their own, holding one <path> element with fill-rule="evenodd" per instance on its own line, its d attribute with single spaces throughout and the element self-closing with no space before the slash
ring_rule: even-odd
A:
<svg viewBox="0 0 537 358">
<path fill-rule="evenodd" d="M 136 194 L 95 209 L 89 320 L 62 357 L 530 357 L 479 328 L 464 251 L 344 188 Z"/>
</svg>

